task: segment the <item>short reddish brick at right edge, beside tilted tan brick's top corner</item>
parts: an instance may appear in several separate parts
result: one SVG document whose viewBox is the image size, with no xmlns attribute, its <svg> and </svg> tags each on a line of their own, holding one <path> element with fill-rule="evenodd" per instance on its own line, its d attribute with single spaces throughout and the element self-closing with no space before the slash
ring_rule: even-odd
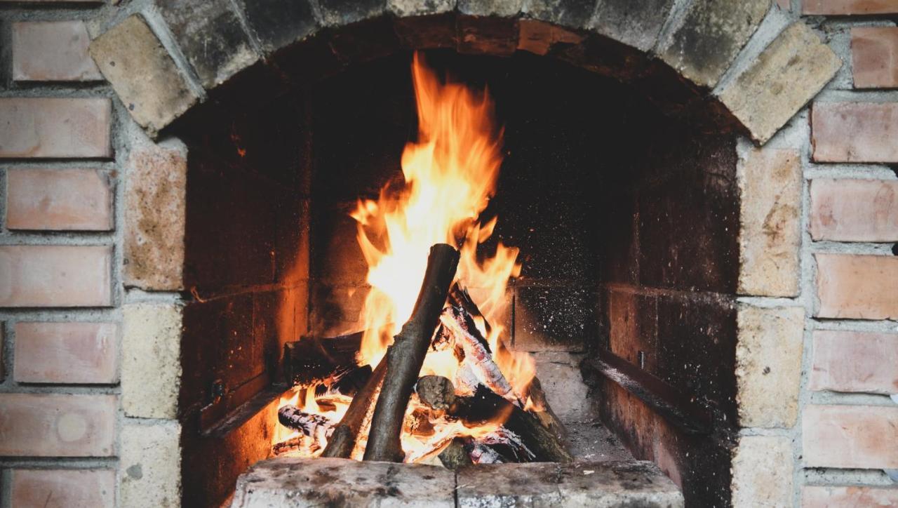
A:
<svg viewBox="0 0 898 508">
<path fill-rule="evenodd" d="M 851 62 L 855 88 L 898 87 L 898 28 L 851 29 Z"/>
</svg>

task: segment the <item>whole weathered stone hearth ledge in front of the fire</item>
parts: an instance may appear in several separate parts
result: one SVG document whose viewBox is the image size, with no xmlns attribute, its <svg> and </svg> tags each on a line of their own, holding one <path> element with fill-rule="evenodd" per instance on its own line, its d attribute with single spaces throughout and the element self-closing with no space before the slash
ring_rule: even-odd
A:
<svg viewBox="0 0 898 508">
<path fill-rule="evenodd" d="M 495 464 L 456 475 L 422 464 L 280 458 L 260 461 L 237 480 L 232 507 L 682 505 L 674 482 L 637 460 Z"/>
</svg>

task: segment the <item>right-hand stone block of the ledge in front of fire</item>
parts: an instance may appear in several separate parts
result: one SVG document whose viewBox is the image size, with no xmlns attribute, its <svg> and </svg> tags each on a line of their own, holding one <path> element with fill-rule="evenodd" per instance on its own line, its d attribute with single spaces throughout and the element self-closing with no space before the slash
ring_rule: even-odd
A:
<svg viewBox="0 0 898 508">
<path fill-rule="evenodd" d="M 680 489 L 644 461 L 481 464 L 460 469 L 458 506 L 683 505 Z"/>
</svg>

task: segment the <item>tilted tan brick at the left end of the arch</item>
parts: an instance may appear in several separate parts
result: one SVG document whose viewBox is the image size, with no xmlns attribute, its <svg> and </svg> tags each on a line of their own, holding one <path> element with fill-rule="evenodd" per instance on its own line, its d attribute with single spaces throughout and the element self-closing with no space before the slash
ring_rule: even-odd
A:
<svg viewBox="0 0 898 508">
<path fill-rule="evenodd" d="M 91 43 L 91 56 L 140 127 L 156 133 L 199 96 L 139 14 Z"/>
</svg>

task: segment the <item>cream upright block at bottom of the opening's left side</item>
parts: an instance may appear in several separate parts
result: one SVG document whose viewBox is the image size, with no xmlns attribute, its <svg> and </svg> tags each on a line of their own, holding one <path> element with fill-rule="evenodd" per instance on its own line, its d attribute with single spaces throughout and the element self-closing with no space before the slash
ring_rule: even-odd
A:
<svg viewBox="0 0 898 508">
<path fill-rule="evenodd" d="M 180 506 L 180 425 L 125 418 L 120 442 L 120 505 Z"/>
</svg>

